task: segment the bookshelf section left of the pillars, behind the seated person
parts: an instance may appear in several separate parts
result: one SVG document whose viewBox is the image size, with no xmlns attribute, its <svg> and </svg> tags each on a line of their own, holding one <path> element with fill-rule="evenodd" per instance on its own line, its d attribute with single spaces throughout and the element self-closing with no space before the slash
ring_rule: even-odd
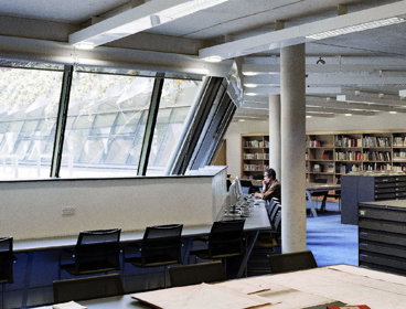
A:
<svg viewBox="0 0 406 309">
<path fill-rule="evenodd" d="M 263 179 L 269 167 L 269 136 L 242 135 L 242 179 Z"/>
</svg>

